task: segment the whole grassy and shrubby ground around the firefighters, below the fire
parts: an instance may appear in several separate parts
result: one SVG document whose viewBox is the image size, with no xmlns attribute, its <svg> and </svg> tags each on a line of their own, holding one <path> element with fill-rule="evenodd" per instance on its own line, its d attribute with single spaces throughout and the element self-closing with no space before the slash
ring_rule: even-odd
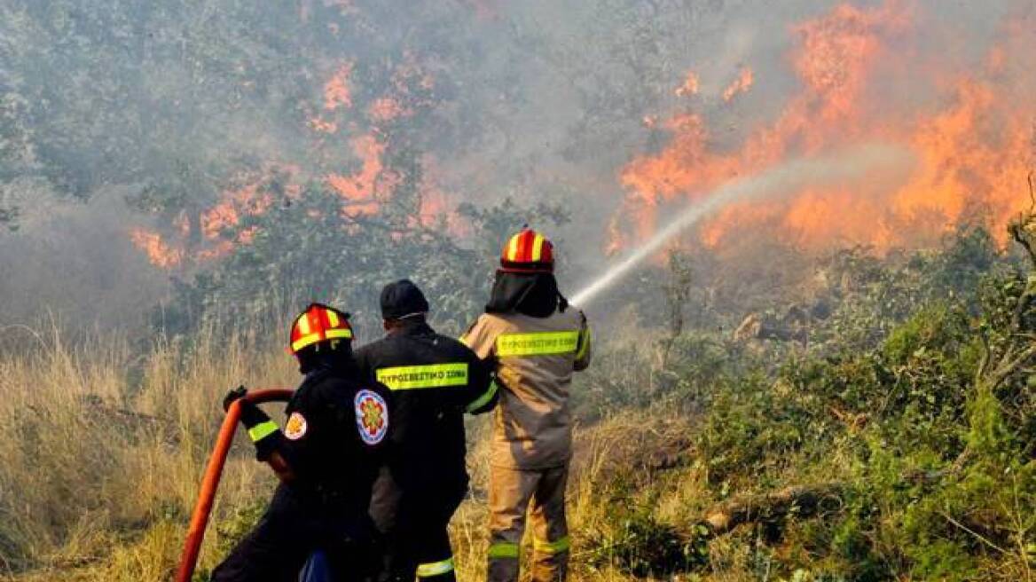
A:
<svg viewBox="0 0 1036 582">
<path fill-rule="evenodd" d="M 809 286 L 829 309 L 790 340 L 610 321 L 621 332 L 598 333 L 575 387 L 575 579 L 1031 580 L 1030 259 L 981 229 L 938 252 L 837 254 Z M 0 378 L 7 578 L 130 581 L 175 565 L 223 389 L 295 373 L 265 339 L 200 329 L 144 354 L 44 334 Z M 472 495 L 453 534 L 479 579 L 486 426 L 470 429 Z M 235 447 L 203 570 L 271 489 L 249 448 Z"/>
</svg>

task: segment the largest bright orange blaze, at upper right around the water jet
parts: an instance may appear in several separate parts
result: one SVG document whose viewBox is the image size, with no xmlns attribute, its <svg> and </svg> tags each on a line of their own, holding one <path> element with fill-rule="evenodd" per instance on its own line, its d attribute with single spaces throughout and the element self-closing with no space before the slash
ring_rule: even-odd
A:
<svg viewBox="0 0 1036 582">
<path fill-rule="evenodd" d="M 790 27 L 796 42 L 788 63 L 800 89 L 735 147 L 714 136 L 700 113 L 659 120 L 670 141 L 622 169 L 627 196 L 606 250 L 621 248 L 629 231 L 633 241 L 645 239 L 667 203 L 708 196 L 731 178 L 789 157 L 869 141 L 909 148 L 916 168 L 905 178 L 873 176 L 841 188 L 806 190 L 785 202 L 728 207 L 699 236 L 715 246 L 744 232 L 758 235 L 766 226 L 803 248 L 862 242 L 886 250 L 934 240 L 979 213 L 995 227 L 1006 224 L 1028 204 L 1036 103 L 1024 71 L 1036 66 L 1036 27 L 1009 22 L 978 67 L 961 74 L 939 56 L 903 62 L 903 52 L 919 41 L 919 18 L 895 1 L 872 8 L 842 4 Z M 724 100 L 753 81 L 743 66 Z M 890 99 L 896 83 L 909 86 L 913 98 Z"/>
</svg>

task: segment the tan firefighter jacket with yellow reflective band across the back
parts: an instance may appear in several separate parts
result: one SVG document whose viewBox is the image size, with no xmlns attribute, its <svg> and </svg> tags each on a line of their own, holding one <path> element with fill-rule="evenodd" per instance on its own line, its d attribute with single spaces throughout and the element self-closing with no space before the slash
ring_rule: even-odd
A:
<svg viewBox="0 0 1036 582">
<path fill-rule="evenodd" d="M 544 469 L 572 457 L 569 386 L 591 359 L 586 317 L 575 308 L 545 318 L 483 314 L 461 338 L 481 358 L 496 361 L 499 404 L 490 462 Z"/>
</svg>

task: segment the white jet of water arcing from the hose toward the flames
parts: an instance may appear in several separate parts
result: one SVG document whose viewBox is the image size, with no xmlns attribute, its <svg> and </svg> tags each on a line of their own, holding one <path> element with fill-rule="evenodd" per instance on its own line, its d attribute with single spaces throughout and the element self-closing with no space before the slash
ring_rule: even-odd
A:
<svg viewBox="0 0 1036 582">
<path fill-rule="evenodd" d="M 753 176 L 727 182 L 690 205 L 651 240 L 580 289 L 573 295 L 572 302 L 584 305 L 660 251 L 669 239 L 724 206 L 764 197 L 776 200 L 806 186 L 831 185 L 859 179 L 879 169 L 902 168 L 911 157 L 910 151 L 901 147 L 867 144 L 831 155 L 793 159 Z"/>
</svg>

